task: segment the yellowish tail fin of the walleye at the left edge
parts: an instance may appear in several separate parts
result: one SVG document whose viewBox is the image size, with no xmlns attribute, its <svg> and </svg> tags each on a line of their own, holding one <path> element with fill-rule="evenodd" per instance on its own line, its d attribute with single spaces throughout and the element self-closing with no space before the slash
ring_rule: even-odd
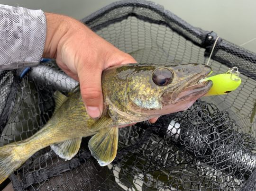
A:
<svg viewBox="0 0 256 191">
<path fill-rule="evenodd" d="M 19 157 L 17 147 L 14 144 L 0 147 L 0 184 L 25 162 Z"/>
</svg>

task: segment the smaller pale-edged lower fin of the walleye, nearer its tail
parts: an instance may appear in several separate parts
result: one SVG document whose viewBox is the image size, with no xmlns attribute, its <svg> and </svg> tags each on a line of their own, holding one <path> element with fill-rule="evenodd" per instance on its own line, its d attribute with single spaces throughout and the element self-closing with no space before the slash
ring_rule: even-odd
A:
<svg viewBox="0 0 256 191">
<path fill-rule="evenodd" d="M 68 139 L 61 143 L 51 145 L 54 152 L 61 158 L 70 160 L 75 156 L 80 148 L 81 138 Z"/>
</svg>

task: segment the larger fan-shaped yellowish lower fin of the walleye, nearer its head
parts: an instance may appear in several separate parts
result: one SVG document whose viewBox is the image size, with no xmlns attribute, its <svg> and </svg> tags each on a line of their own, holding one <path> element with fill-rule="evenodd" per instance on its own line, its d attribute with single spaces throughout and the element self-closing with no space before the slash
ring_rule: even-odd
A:
<svg viewBox="0 0 256 191">
<path fill-rule="evenodd" d="M 102 129 L 90 139 L 88 147 L 101 166 L 109 165 L 117 155 L 118 127 Z"/>
</svg>

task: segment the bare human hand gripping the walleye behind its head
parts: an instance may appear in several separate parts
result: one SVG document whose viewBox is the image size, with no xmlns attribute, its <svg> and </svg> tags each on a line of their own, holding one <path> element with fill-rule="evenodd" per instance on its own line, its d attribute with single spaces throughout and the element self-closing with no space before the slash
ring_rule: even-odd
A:
<svg viewBox="0 0 256 191">
<path fill-rule="evenodd" d="M 103 111 L 102 71 L 110 66 L 136 61 L 71 17 L 46 13 L 46 23 L 43 56 L 55 58 L 67 75 L 80 82 L 88 114 L 99 118 Z M 154 118 L 150 122 L 156 120 Z"/>
</svg>

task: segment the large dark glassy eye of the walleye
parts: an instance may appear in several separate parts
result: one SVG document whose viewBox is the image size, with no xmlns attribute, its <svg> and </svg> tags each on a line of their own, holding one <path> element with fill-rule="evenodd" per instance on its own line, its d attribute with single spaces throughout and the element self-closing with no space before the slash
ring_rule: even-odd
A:
<svg viewBox="0 0 256 191">
<path fill-rule="evenodd" d="M 173 72 L 168 68 L 157 68 L 153 71 L 152 80 L 157 86 L 166 86 L 173 80 Z"/>
</svg>

